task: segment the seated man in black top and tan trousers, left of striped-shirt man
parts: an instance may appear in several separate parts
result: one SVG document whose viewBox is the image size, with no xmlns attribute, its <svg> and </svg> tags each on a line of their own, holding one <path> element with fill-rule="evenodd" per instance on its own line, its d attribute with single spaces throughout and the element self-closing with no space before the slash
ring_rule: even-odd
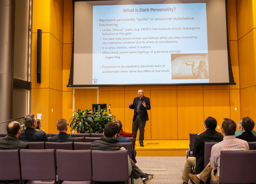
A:
<svg viewBox="0 0 256 184">
<path fill-rule="evenodd" d="M 194 157 L 188 157 L 181 180 L 183 183 L 188 183 L 188 174 L 191 172 L 193 166 L 196 167 L 196 173 L 200 173 L 204 170 L 204 143 L 205 142 L 220 142 L 223 140 L 223 136 L 215 129 L 217 127 L 217 121 L 209 116 L 204 121 L 205 132 L 200 133 L 194 140 Z"/>
</svg>

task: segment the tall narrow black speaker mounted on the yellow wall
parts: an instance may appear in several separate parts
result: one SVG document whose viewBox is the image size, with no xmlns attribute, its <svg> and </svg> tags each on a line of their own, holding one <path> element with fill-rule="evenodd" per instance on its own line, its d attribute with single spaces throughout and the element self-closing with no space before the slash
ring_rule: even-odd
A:
<svg viewBox="0 0 256 184">
<path fill-rule="evenodd" d="M 42 29 L 37 29 L 36 81 L 41 83 Z"/>
</svg>

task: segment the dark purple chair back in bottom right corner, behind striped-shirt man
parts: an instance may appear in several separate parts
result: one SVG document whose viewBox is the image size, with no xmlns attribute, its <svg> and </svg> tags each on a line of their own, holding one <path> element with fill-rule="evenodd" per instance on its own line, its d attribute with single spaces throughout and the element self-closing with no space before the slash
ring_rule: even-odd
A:
<svg viewBox="0 0 256 184">
<path fill-rule="evenodd" d="M 221 151 L 220 183 L 255 183 L 256 150 Z"/>
</svg>

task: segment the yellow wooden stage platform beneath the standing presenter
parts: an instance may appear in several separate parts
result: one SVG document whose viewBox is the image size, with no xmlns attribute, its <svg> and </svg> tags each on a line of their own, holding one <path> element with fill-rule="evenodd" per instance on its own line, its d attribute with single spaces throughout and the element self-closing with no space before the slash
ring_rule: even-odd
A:
<svg viewBox="0 0 256 184">
<path fill-rule="evenodd" d="M 188 140 L 144 140 L 144 147 L 136 141 L 136 156 L 186 156 Z"/>
</svg>

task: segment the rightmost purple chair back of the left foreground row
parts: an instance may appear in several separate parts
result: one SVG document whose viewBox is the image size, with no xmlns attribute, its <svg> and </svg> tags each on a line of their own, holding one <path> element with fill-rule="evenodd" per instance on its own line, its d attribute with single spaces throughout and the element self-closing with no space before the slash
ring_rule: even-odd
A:
<svg viewBox="0 0 256 184">
<path fill-rule="evenodd" d="M 92 150 L 93 181 L 129 181 L 127 150 Z"/>
</svg>

